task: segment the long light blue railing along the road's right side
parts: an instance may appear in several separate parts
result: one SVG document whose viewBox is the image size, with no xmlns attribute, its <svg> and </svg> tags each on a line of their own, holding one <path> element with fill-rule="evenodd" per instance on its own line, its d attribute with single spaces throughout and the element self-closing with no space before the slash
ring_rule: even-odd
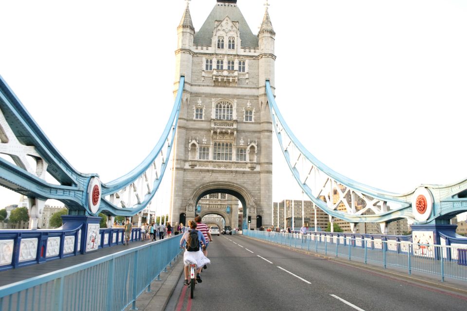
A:
<svg viewBox="0 0 467 311">
<path fill-rule="evenodd" d="M 467 281 L 467 245 L 434 245 L 344 235 L 243 230 L 243 235 L 326 256 Z"/>
</svg>

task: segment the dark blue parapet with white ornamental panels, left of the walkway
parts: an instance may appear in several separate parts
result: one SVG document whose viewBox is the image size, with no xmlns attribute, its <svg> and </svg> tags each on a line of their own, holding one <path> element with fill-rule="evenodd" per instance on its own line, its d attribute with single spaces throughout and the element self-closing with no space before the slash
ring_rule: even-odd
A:
<svg viewBox="0 0 467 311">
<path fill-rule="evenodd" d="M 87 243 L 98 249 L 123 244 L 123 228 L 102 228 L 93 240 L 86 240 L 82 225 L 61 230 L 1 230 L 0 271 L 83 254 Z M 141 240 L 141 229 L 133 228 L 130 241 Z M 1 309 L 0 309 L 1 310 Z"/>
</svg>

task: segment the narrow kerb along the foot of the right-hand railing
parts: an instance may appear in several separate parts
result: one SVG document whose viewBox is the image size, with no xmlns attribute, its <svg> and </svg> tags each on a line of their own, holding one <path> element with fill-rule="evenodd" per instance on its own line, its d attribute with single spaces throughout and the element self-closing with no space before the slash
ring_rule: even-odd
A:
<svg viewBox="0 0 467 311">
<path fill-rule="evenodd" d="M 375 267 L 375 266 L 372 266 L 372 265 L 369 265 L 369 264 L 364 264 L 364 263 L 360 263 L 360 262 L 356 262 L 356 261 L 350 261 L 350 260 L 344 260 L 344 259 L 341 259 L 341 258 L 338 258 L 338 257 L 329 257 L 329 256 L 326 256 L 326 255 L 323 255 L 323 254 L 320 254 L 320 253 L 315 253 L 315 252 L 311 252 L 311 251 L 308 251 L 308 250 L 303 250 L 303 249 L 290 247 L 290 246 L 286 246 L 286 245 L 282 245 L 282 244 L 277 244 L 277 243 L 273 243 L 273 242 L 269 242 L 269 241 L 265 241 L 265 240 L 260 240 L 260 239 L 248 237 L 248 236 L 245 236 L 245 235 L 244 235 L 244 237 L 248 238 L 248 239 L 251 239 L 251 240 L 265 242 L 265 243 L 268 243 L 268 244 L 271 244 L 271 245 L 276 245 L 276 246 L 279 246 L 279 247 L 282 247 L 282 248 L 293 250 L 293 251 L 296 251 L 296 252 L 299 252 L 299 253 L 303 253 L 305 255 L 311 255 L 311 256 L 314 256 L 314 257 L 327 259 L 329 261 L 334 261 L 334 262 L 338 262 L 340 264 L 354 266 L 354 267 L 357 267 L 357 268 L 360 268 L 360 269 L 364 267 L 365 270 L 371 270 L 371 271 L 379 273 L 379 274 L 391 275 L 393 277 L 397 277 L 397 278 L 400 278 L 400 279 L 405 279 L 406 281 L 422 283 L 422 284 L 425 284 L 425 285 L 428 285 L 428 286 L 431 286 L 431 287 L 436 287 L 436 288 L 444 289 L 444 290 L 447 290 L 447 291 L 450 291 L 450 292 L 455 292 L 455 293 L 467 295 L 467 288 L 452 287 L 452 286 L 445 285 L 445 284 L 442 284 L 442 283 L 437 283 L 437 282 L 434 282 L 434 281 L 431 281 L 431 280 L 426 280 L 426 279 L 423 279 L 423 278 L 420 278 L 420 277 L 411 276 L 411 275 L 404 275 L 404 274 L 397 273 L 395 271 L 390 271 L 388 269 L 381 269 L 381 268 L 378 268 L 378 267 Z M 439 282 L 441 282 L 441 281 L 439 281 Z"/>
</svg>

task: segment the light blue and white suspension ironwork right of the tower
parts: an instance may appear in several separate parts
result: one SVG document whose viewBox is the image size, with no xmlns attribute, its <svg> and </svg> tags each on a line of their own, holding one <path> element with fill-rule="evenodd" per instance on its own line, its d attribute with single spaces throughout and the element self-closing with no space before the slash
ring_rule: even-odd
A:
<svg viewBox="0 0 467 311">
<path fill-rule="evenodd" d="M 444 186 L 422 185 L 411 192 L 396 194 L 361 184 L 331 170 L 292 133 L 278 109 L 268 80 L 266 94 L 272 124 L 292 175 L 311 201 L 327 214 L 351 224 L 373 222 L 385 225 L 401 218 L 416 224 L 446 223 L 454 215 L 467 211 L 467 179 Z M 428 204 L 430 211 L 424 215 L 429 216 L 426 219 L 417 219 L 416 209 L 413 208 L 419 190 L 433 199 L 432 205 Z M 337 204 L 333 202 L 333 191 L 340 195 L 341 200 Z M 346 202 L 346 196 L 351 196 L 352 206 Z M 353 205 L 357 197 L 365 203 L 363 210 L 356 210 Z M 347 210 L 337 209 L 340 202 Z"/>
</svg>

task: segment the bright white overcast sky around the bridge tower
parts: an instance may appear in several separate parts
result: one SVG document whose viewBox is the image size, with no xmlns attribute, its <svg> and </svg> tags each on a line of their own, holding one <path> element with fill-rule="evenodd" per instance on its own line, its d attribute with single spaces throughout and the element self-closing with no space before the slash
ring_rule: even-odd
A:
<svg viewBox="0 0 467 311">
<path fill-rule="evenodd" d="M 196 30 L 215 4 L 190 2 Z M 254 34 L 263 4 L 237 2 Z M 467 178 L 467 1 L 269 4 L 276 102 L 308 151 L 344 176 L 396 193 Z M 1 0 L 0 75 L 75 169 L 111 181 L 162 134 L 184 7 Z M 301 199 L 274 144 L 273 200 Z M 18 197 L 1 189 L 0 206 Z"/>
</svg>

